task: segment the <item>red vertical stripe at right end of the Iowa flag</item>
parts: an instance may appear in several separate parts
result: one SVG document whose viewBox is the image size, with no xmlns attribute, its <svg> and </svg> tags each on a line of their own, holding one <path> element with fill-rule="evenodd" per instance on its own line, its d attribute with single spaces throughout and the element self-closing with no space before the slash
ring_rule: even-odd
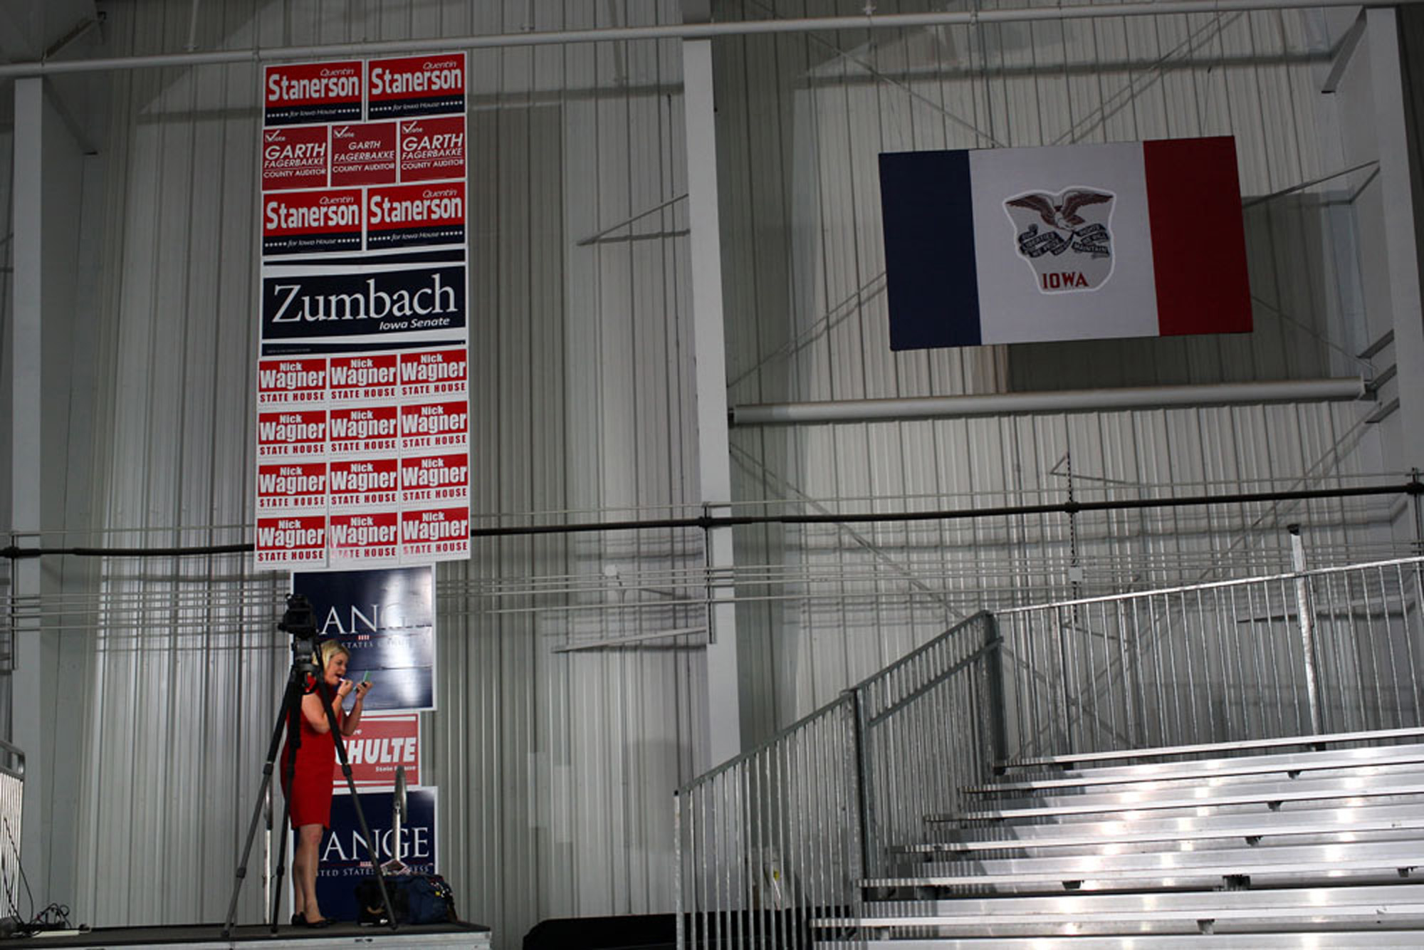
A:
<svg viewBox="0 0 1424 950">
<path fill-rule="evenodd" d="M 1249 333 L 1246 232 L 1229 135 L 1142 142 L 1158 332 Z"/>
</svg>

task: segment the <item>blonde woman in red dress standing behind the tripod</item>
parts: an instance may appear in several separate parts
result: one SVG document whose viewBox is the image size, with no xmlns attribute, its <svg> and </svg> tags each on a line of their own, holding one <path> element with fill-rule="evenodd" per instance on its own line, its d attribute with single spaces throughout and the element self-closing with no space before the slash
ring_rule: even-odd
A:
<svg viewBox="0 0 1424 950">
<path fill-rule="evenodd" d="M 352 681 L 345 678 L 346 661 L 350 654 L 336 640 L 328 640 L 318 645 L 316 658 L 320 661 L 323 678 L 332 696 L 332 711 L 336 714 L 336 725 L 343 736 L 356 732 L 360 722 L 362 704 L 370 682 L 362 682 L 355 688 L 356 702 L 350 712 L 342 709 Z M 332 724 L 322 708 L 322 696 L 312 689 L 302 696 L 302 715 L 299 716 L 302 742 L 296 749 L 296 769 L 290 783 L 286 778 L 288 749 L 283 743 L 282 758 L 278 759 L 282 768 L 282 792 L 286 795 L 292 813 L 292 832 L 296 836 L 296 855 L 292 857 L 292 923 L 308 927 L 325 927 L 330 923 L 322 916 L 322 909 L 316 906 L 316 866 L 320 862 L 318 849 L 322 845 L 322 832 L 332 823 L 332 772 L 336 768 L 336 741 L 332 738 Z"/>
</svg>

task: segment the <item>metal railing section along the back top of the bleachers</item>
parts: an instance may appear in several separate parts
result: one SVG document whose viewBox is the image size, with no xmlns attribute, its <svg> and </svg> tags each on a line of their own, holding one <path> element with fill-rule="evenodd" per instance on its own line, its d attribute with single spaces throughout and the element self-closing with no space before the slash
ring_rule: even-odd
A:
<svg viewBox="0 0 1424 950">
<path fill-rule="evenodd" d="M 1012 758 L 1424 725 L 1424 558 L 998 614 Z"/>
</svg>

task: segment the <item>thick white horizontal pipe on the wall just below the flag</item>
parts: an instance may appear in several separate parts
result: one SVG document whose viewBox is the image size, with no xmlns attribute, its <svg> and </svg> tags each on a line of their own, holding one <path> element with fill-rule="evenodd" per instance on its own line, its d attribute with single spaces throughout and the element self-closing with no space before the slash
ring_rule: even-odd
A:
<svg viewBox="0 0 1424 950">
<path fill-rule="evenodd" d="M 1015 413 L 1304 403 L 1366 399 L 1368 396 L 1370 389 L 1363 377 L 1344 376 L 1269 383 L 1215 383 L 1209 386 L 1124 386 L 1119 389 L 1067 389 L 1061 392 L 988 393 L 983 396 L 763 403 L 733 406 L 731 420 L 733 426 L 780 426 L 820 422 L 904 422 L 911 419 L 961 419 L 964 416 Z"/>
</svg>

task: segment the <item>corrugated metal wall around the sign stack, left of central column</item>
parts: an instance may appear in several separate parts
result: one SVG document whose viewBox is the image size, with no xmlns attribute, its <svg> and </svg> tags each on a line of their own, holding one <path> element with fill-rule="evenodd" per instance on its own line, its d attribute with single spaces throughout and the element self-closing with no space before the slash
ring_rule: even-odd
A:
<svg viewBox="0 0 1424 950">
<path fill-rule="evenodd" d="M 114 51 L 181 48 L 191 9 L 115 10 Z M 292 0 L 204 7 L 197 37 L 246 47 L 674 17 L 671 1 Z M 95 404 L 111 543 L 228 543 L 251 517 L 256 75 L 112 78 Z M 678 46 L 481 51 L 470 75 L 476 513 L 682 516 L 696 443 Z M 666 802 L 706 762 L 699 651 L 551 652 L 705 622 L 699 610 L 561 611 L 577 598 L 500 591 L 699 563 L 696 533 L 668 531 L 506 538 L 441 565 L 427 776 L 441 788 L 443 872 L 501 946 L 544 917 L 671 907 Z M 286 664 L 272 632 L 285 581 L 248 571 L 232 557 L 104 564 L 81 893 L 66 896 L 85 920 L 226 909 Z M 154 866 L 177 884 L 144 889 L 140 869 Z"/>
</svg>

